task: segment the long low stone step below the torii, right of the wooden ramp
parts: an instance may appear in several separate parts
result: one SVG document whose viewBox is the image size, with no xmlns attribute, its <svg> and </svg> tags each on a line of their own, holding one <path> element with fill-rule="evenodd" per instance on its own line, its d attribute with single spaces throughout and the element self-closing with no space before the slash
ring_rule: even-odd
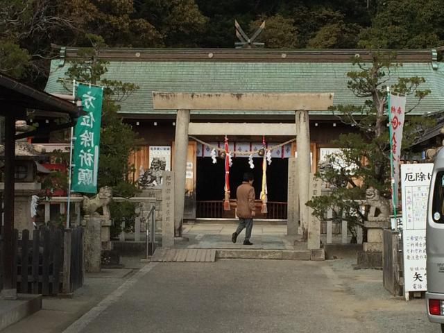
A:
<svg viewBox="0 0 444 333">
<path fill-rule="evenodd" d="M 325 260 L 325 251 L 323 248 L 320 250 L 217 249 L 216 259 Z"/>
</svg>

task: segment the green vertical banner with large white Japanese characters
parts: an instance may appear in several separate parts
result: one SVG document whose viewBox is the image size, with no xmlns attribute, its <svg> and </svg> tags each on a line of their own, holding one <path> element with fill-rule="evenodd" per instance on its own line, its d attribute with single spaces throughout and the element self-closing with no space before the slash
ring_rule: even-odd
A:
<svg viewBox="0 0 444 333">
<path fill-rule="evenodd" d="M 77 120 L 71 191 L 97 193 L 103 88 L 78 85 L 77 97 L 87 114 Z"/>
</svg>

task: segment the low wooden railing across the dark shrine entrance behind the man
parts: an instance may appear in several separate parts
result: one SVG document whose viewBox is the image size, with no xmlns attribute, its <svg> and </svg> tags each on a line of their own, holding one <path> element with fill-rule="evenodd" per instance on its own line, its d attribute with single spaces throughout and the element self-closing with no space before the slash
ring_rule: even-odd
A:
<svg viewBox="0 0 444 333">
<path fill-rule="evenodd" d="M 256 200 L 256 219 L 287 219 L 287 203 L 268 201 L 268 213 L 261 213 L 262 201 Z M 223 210 L 223 200 L 196 201 L 196 217 L 199 219 L 235 219 L 236 200 L 230 200 L 230 210 Z"/>
</svg>

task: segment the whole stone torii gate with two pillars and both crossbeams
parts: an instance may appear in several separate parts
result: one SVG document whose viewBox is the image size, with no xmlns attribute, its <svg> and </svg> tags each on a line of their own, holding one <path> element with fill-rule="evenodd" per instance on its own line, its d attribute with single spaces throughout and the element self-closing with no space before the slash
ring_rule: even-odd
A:
<svg viewBox="0 0 444 333">
<path fill-rule="evenodd" d="M 205 135 L 216 133 L 220 123 L 190 123 L 190 110 L 275 110 L 294 111 L 296 126 L 283 123 L 268 123 L 265 126 L 255 126 L 251 123 L 225 123 L 224 130 L 231 133 L 249 135 L 282 135 L 282 131 L 296 135 L 298 146 L 297 167 L 298 193 L 300 202 L 300 221 L 305 231 L 313 229 L 309 234 L 309 248 L 320 247 L 320 228 L 310 225 L 309 210 L 305 205 L 309 200 L 310 173 L 310 133 L 309 111 L 325 111 L 333 105 L 333 93 L 185 93 L 185 92 L 153 92 L 153 108 L 155 110 L 177 110 L 176 138 L 174 140 L 174 225 L 171 237 L 182 236 L 182 220 L 185 205 L 185 175 L 187 171 L 188 135 Z M 256 125 L 256 124 L 255 124 Z M 192 133 L 189 133 L 191 128 Z M 293 130 L 291 129 L 293 128 Z M 210 132 L 208 132 L 210 130 Z M 259 133 L 260 132 L 260 133 Z M 230 134 L 230 133 L 225 133 Z M 297 221 L 288 221 L 288 234 L 296 235 Z M 317 230 L 319 230 L 317 232 Z M 168 244 L 174 244 L 170 239 Z M 164 242 L 164 244 L 166 244 Z"/>
</svg>

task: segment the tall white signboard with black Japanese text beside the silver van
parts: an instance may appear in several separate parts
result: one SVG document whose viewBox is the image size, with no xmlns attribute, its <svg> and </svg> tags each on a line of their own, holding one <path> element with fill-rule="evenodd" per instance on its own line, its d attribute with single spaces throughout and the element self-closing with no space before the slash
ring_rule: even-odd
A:
<svg viewBox="0 0 444 333">
<path fill-rule="evenodd" d="M 425 227 L 433 164 L 402 164 L 402 253 L 404 295 L 427 290 Z"/>
</svg>

